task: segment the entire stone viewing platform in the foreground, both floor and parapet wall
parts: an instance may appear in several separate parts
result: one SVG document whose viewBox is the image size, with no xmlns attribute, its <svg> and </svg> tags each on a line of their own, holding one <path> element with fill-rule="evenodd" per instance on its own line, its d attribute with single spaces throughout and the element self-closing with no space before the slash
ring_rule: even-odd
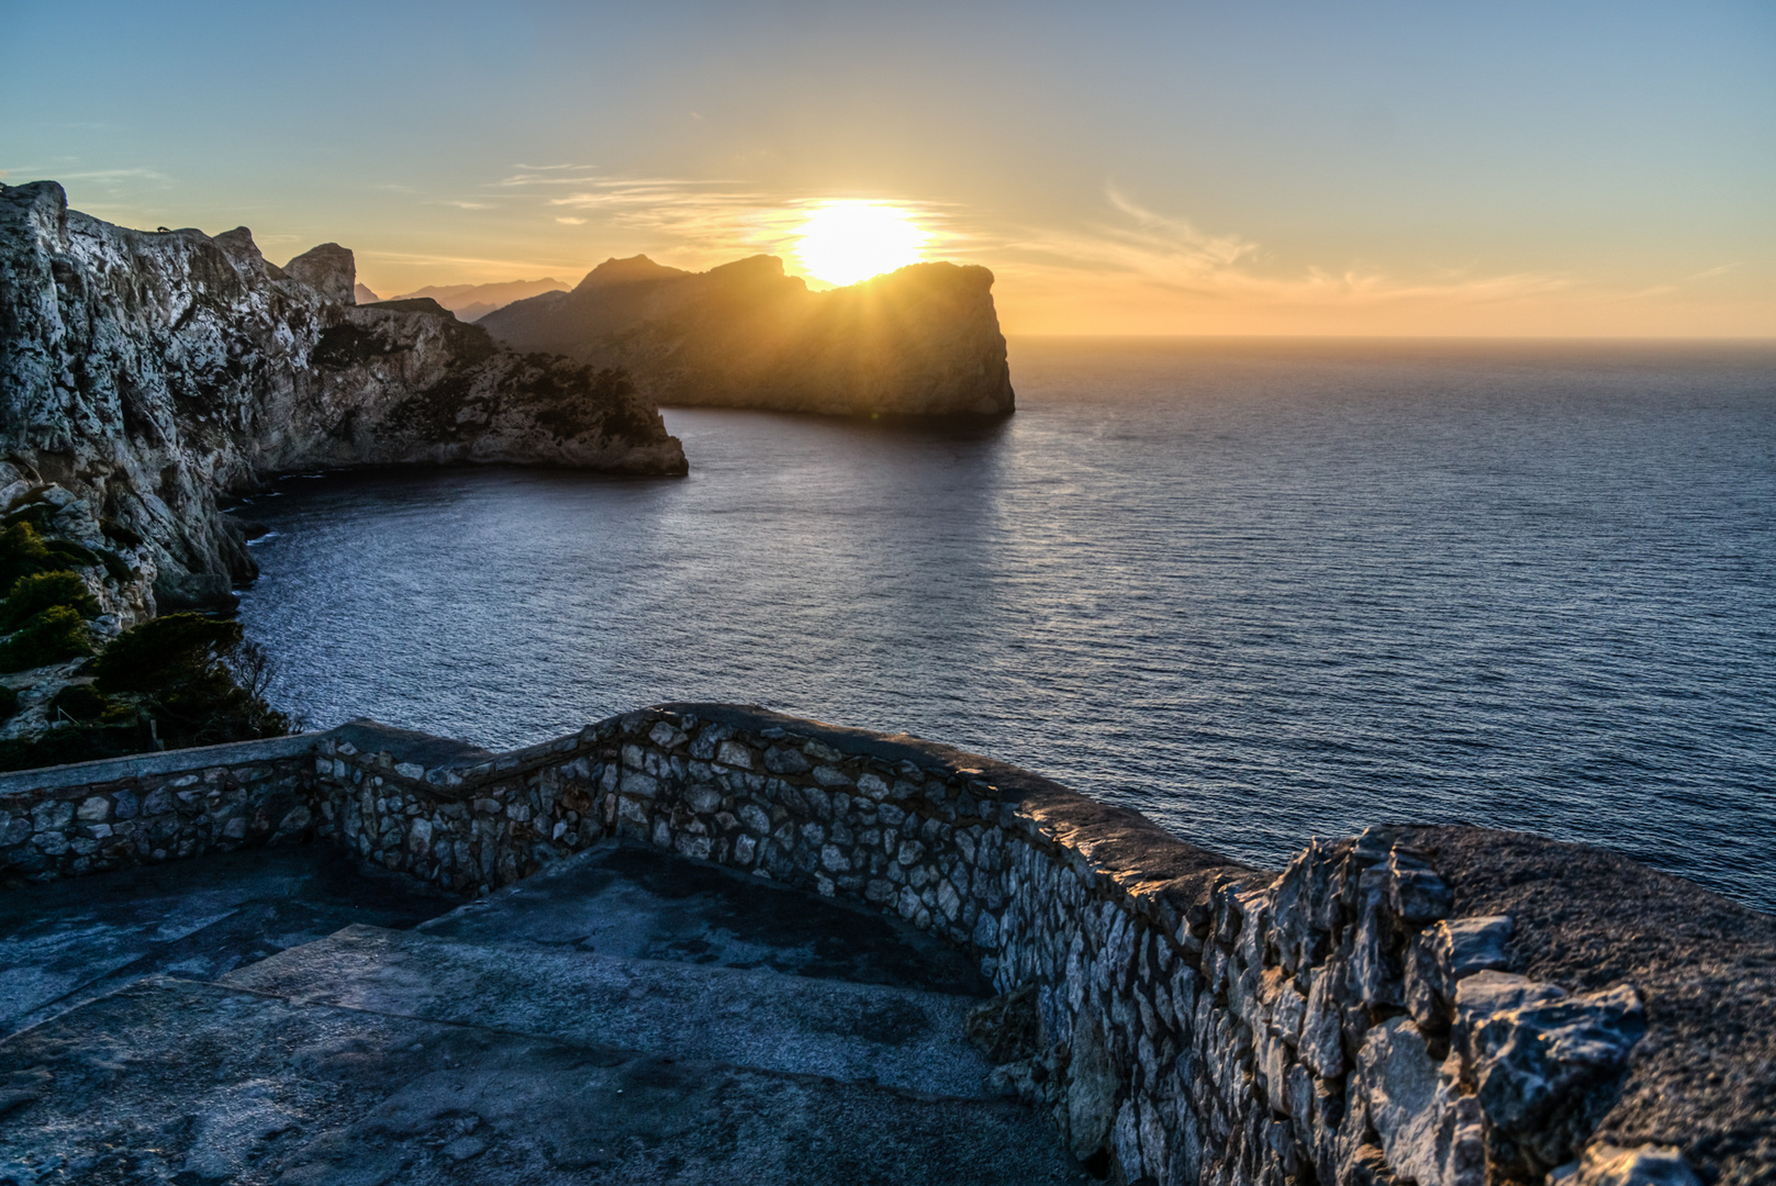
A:
<svg viewBox="0 0 1776 1186">
<path fill-rule="evenodd" d="M 1776 920 L 1527 834 L 661 705 L 7 774 L 0 870 L 0 1181 L 1776 1179 Z"/>
</svg>

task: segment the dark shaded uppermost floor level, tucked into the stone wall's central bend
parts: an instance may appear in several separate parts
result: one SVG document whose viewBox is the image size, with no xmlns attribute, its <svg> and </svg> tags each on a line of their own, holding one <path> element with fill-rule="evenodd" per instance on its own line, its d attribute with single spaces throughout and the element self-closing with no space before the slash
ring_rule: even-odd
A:
<svg viewBox="0 0 1776 1186">
<path fill-rule="evenodd" d="M 847 902 L 602 843 L 435 918 L 426 934 L 991 996 L 955 948 Z"/>
</svg>

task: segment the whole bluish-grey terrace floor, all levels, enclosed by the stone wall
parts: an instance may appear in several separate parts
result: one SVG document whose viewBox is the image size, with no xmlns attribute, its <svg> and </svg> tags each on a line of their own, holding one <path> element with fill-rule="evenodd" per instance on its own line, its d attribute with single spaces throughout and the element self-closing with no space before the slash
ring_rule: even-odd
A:
<svg viewBox="0 0 1776 1186">
<path fill-rule="evenodd" d="M 879 914 L 607 843 L 458 904 L 323 847 L 0 898 L 0 1182 L 1085 1182 Z"/>
</svg>

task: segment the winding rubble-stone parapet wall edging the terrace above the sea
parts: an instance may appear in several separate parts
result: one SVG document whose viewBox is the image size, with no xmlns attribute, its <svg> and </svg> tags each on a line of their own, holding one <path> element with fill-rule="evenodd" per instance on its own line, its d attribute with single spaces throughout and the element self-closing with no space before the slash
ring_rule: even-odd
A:
<svg viewBox="0 0 1776 1186">
<path fill-rule="evenodd" d="M 1041 1035 L 996 1079 L 1114 1181 L 1776 1174 L 1776 920 L 1611 854 L 1375 827 L 1259 872 L 1018 767 L 732 705 L 497 756 L 369 723 L 288 742 L 305 783 L 258 753 L 34 806 L 0 781 L 37 829 L 0 859 L 36 847 L 34 875 L 55 875 L 114 859 L 107 840 L 160 859 L 313 833 L 474 895 L 623 836 L 970 948 Z M 133 820 L 128 842 L 96 834 L 149 785 L 183 804 L 160 804 L 165 842 Z M 36 834 L 98 847 L 50 861 Z M 1664 946 L 1611 916 L 1623 900 L 1666 911 Z"/>
</svg>

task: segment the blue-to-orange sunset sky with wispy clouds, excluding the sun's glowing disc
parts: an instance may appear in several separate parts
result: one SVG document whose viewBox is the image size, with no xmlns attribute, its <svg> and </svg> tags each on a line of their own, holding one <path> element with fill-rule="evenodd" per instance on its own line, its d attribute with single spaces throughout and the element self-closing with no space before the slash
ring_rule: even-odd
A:
<svg viewBox="0 0 1776 1186">
<path fill-rule="evenodd" d="M 0 0 L 0 170 L 384 295 L 920 211 L 1007 332 L 1776 336 L 1776 4 Z"/>
</svg>

